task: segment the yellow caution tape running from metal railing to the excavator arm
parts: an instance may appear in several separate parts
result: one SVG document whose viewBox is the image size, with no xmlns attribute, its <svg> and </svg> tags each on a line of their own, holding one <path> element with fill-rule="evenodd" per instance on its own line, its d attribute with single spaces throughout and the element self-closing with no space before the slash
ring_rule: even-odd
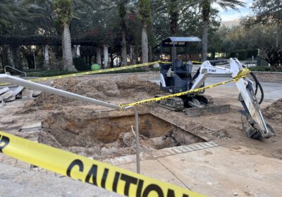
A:
<svg viewBox="0 0 282 197">
<path fill-rule="evenodd" d="M 177 93 L 177 94 L 170 94 L 168 96 L 160 96 L 160 97 L 157 97 L 157 98 L 149 98 L 149 99 L 145 99 L 145 100 L 138 101 L 138 102 L 135 102 L 135 103 L 120 104 L 120 106 L 121 106 L 121 108 L 125 108 L 125 107 L 128 107 L 128 106 L 137 106 L 137 105 L 142 105 L 142 104 L 145 104 L 145 103 L 165 100 L 167 98 L 173 98 L 173 97 L 177 97 L 177 96 L 184 96 L 184 95 L 187 95 L 187 94 L 197 93 L 199 91 L 203 91 L 204 89 L 211 89 L 213 87 L 217 87 L 217 86 L 220 86 L 220 85 L 223 85 L 223 84 L 228 84 L 230 82 L 237 82 L 241 78 L 247 77 L 247 75 L 249 75 L 250 72 L 251 71 L 249 69 L 243 68 L 242 70 L 240 70 L 238 75 L 236 77 L 234 77 L 232 80 L 228 80 L 228 81 L 225 81 L 225 82 L 220 82 L 220 83 L 212 84 L 212 85 L 209 85 L 207 87 L 201 87 L 201 88 L 198 88 L 198 89 L 192 89 L 192 90 L 189 90 L 189 91 L 183 91 L 183 92 L 180 92 L 180 93 Z"/>
</svg>

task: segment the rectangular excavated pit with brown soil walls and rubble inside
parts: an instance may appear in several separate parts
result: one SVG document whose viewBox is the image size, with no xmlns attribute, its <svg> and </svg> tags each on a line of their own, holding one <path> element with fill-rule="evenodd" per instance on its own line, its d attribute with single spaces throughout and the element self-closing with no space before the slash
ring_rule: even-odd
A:
<svg viewBox="0 0 282 197">
<path fill-rule="evenodd" d="M 135 154 L 135 117 L 111 113 L 50 113 L 38 141 L 94 159 Z M 151 114 L 140 115 L 142 152 L 204 141 Z"/>
</svg>

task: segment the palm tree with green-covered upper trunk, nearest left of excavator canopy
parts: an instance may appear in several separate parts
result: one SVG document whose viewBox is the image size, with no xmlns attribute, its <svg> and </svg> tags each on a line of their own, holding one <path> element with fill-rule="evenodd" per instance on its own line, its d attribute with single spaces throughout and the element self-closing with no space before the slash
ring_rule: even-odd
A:
<svg viewBox="0 0 282 197">
<path fill-rule="evenodd" d="M 149 61 L 147 27 L 152 23 L 151 6 L 149 0 L 138 1 L 138 15 L 142 22 L 142 63 Z"/>
</svg>

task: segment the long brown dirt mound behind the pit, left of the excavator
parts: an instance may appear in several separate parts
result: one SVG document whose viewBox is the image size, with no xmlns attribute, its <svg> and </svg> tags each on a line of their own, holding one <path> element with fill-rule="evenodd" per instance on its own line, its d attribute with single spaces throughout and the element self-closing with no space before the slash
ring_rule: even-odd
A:
<svg viewBox="0 0 282 197">
<path fill-rule="evenodd" d="M 100 99 L 102 101 L 111 101 L 116 98 L 128 98 L 133 95 L 142 95 L 152 97 L 160 93 L 159 86 L 152 82 L 142 81 L 137 77 L 123 77 L 120 80 L 95 77 L 92 80 L 83 80 L 83 78 L 67 78 L 56 80 L 51 83 L 51 87 L 71 91 L 75 94 Z M 53 94 L 42 93 L 32 103 L 27 103 L 25 109 L 31 107 L 41 107 L 44 110 L 60 108 L 60 106 L 69 106 L 70 103 L 80 106 L 83 103 L 72 99 L 63 98 Z"/>
</svg>

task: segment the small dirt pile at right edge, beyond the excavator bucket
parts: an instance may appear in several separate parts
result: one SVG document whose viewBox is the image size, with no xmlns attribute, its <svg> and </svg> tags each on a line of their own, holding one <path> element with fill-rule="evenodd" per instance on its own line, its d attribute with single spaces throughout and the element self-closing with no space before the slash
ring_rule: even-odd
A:
<svg viewBox="0 0 282 197">
<path fill-rule="evenodd" d="M 282 120 L 282 98 L 263 110 L 264 116 L 273 120 Z"/>
</svg>

